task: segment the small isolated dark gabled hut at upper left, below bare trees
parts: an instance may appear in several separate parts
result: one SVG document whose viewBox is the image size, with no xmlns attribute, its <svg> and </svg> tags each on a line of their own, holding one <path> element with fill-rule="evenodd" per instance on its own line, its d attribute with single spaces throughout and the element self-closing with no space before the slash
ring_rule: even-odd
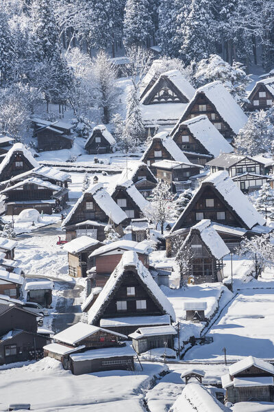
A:
<svg viewBox="0 0 274 412">
<path fill-rule="evenodd" d="M 92 130 L 90 137 L 88 137 L 85 149 L 88 155 L 111 153 L 115 143 L 116 141 L 108 129 L 103 124 L 99 124 Z"/>
</svg>

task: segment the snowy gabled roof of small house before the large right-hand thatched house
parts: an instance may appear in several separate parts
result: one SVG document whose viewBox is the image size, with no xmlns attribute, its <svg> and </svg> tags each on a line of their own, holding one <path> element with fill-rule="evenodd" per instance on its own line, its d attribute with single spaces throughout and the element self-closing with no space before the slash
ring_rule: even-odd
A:
<svg viewBox="0 0 274 412">
<path fill-rule="evenodd" d="M 214 258 L 220 260 L 223 259 L 225 255 L 228 255 L 229 249 L 219 233 L 216 232 L 214 227 L 211 225 L 209 219 L 203 219 L 196 225 L 192 226 L 188 236 L 184 240 L 183 245 L 187 244 L 192 238 L 193 234 L 198 231 L 201 236 L 201 240 L 205 244 L 206 248 L 209 249 L 210 253 Z"/>
</svg>

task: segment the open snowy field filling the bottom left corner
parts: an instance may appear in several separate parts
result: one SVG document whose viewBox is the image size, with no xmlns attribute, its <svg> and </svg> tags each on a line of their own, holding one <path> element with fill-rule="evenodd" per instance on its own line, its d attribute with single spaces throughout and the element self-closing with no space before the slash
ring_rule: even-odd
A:
<svg viewBox="0 0 274 412">
<path fill-rule="evenodd" d="M 32 410 L 144 411 L 143 391 L 167 367 L 158 363 L 136 364 L 136 371 L 108 371 L 74 376 L 52 358 L 0 371 L 0 410 L 10 403 L 30 403 Z M 32 390 L 29 390 L 32 388 Z M 60 408 L 60 409 L 59 409 Z"/>
</svg>

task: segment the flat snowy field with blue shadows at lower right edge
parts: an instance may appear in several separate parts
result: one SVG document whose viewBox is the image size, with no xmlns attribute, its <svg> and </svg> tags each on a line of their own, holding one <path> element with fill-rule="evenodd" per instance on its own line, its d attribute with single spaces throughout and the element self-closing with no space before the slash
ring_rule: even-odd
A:
<svg viewBox="0 0 274 412">
<path fill-rule="evenodd" d="M 224 347 L 228 360 L 249 355 L 273 358 L 273 303 L 274 290 L 240 290 L 210 329 L 213 343 L 192 347 L 184 359 L 223 361 Z"/>
</svg>

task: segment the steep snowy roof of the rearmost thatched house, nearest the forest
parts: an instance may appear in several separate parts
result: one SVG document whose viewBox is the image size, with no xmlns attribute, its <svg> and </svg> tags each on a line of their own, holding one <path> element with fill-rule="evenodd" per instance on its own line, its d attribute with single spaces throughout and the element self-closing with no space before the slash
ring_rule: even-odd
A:
<svg viewBox="0 0 274 412">
<path fill-rule="evenodd" d="M 153 100 L 155 95 L 162 89 L 162 87 L 164 87 L 165 84 L 168 84 L 169 89 L 173 91 L 174 96 L 181 103 L 189 102 L 195 95 L 194 87 L 192 87 L 190 82 L 186 80 L 179 70 L 169 70 L 159 76 L 158 80 L 153 84 L 151 89 L 149 89 L 149 91 L 147 91 L 144 95 L 141 103 L 145 105 L 151 104 L 151 100 Z"/>
</svg>

